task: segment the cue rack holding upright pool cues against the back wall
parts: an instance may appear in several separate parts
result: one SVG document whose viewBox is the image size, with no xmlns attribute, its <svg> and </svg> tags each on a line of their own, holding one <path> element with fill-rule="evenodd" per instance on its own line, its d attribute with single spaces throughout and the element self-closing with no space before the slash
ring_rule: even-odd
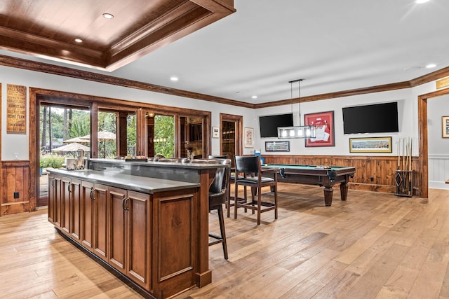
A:
<svg viewBox="0 0 449 299">
<path fill-rule="evenodd" d="M 398 169 L 396 170 L 396 193 L 397 196 L 413 196 L 413 174 L 412 169 L 413 139 L 410 137 L 399 138 L 398 141 Z"/>
</svg>

